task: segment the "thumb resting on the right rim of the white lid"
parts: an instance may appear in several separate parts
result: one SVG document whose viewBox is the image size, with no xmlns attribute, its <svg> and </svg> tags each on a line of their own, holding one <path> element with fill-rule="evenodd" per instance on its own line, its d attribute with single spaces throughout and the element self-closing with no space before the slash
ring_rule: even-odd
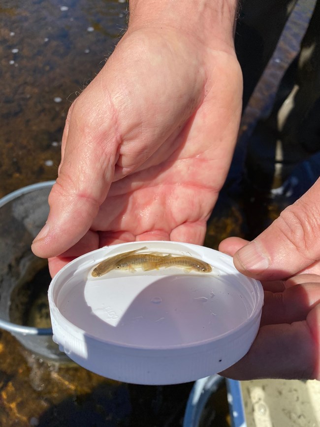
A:
<svg viewBox="0 0 320 427">
<path fill-rule="evenodd" d="M 259 280 L 291 276 L 320 260 L 320 179 L 255 240 L 234 255 L 236 268 Z"/>
</svg>

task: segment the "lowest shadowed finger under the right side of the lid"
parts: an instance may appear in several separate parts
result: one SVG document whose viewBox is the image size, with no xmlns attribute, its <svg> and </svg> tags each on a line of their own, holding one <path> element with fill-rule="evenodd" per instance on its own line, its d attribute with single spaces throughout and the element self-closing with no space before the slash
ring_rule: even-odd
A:
<svg viewBox="0 0 320 427">
<path fill-rule="evenodd" d="M 257 378 L 318 378 L 317 360 L 320 355 L 315 334 L 319 339 L 319 308 L 315 307 L 317 313 L 310 316 L 311 325 L 303 321 L 260 328 L 249 352 L 221 372 L 221 375 L 240 381 Z"/>
</svg>

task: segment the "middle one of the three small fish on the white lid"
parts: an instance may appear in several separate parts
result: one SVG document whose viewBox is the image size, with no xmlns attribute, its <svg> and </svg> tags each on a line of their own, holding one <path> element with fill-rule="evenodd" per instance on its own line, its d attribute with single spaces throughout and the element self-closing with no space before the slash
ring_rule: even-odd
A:
<svg viewBox="0 0 320 427">
<path fill-rule="evenodd" d="M 142 268 L 144 271 L 158 269 L 157 263 L 172 258 L 171 255 L 160 255 L 156 252 L 151 254 L 134 254 L 129 255 L 115 264 L 118 270 L 135 271 L 136 268 Z"/>
</svg>

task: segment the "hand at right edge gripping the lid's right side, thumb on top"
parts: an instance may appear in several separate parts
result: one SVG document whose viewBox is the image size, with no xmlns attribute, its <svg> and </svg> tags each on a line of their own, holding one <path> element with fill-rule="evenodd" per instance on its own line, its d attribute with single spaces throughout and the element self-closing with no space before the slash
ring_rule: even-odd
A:
<svg viewBox="0 0 320 427">
<path fill-rule="evenodd" d="M 222 375 L 238 380 L 320 380 L 319 190 L 320 180 L 255 243 L 230 237 L 220 244 L 238 270 L 263 280 L 264 288 L 256 339 Z"/>
</svg>

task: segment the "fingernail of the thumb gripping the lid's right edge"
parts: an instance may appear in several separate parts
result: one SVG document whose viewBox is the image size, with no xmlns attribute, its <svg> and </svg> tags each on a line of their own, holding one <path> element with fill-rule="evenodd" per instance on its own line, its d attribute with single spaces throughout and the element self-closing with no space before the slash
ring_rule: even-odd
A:
<svg viewBox="0 0 320 427">
<path fill-rule="evenodd" d="M 253 273 L 261 273 L 269 266 L 268 257 L 262 253 L 261 248 L 259 248 L 255 240 L 239 249 L 236 256 L 243 268 Z"/>
</svg>

